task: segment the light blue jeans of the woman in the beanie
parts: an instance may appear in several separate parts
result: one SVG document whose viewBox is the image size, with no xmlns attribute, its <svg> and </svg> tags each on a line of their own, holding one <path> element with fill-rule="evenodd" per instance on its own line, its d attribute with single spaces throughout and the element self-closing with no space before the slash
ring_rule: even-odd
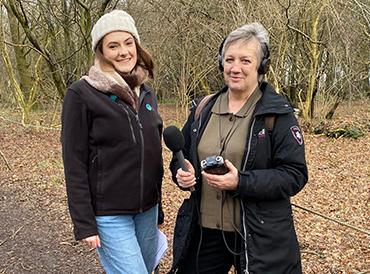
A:
<svg viewBox="0 0 370 274">
<path fill-rule="evenodd" d="M 96 216 L 100 263 L 107 274 L 151 273 L 157 250 L 158 205 L 138 214 Z"/>
</svg>

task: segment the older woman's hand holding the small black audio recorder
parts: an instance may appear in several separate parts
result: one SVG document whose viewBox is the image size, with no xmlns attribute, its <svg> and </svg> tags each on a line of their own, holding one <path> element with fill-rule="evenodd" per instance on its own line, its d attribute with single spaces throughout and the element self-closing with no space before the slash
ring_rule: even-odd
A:
<svg viewBox="0 0 370 274">
<path fill-rule="evenodd" d="M 225 160 L 225 165 L 229 172 L 224 175 L 209 174 L 205 171 L 202 171 L 202 175 L 212 187 L 221 190 L 236 190 L 239 182 L 238 169 L 229 160 Z"/>
</svg>

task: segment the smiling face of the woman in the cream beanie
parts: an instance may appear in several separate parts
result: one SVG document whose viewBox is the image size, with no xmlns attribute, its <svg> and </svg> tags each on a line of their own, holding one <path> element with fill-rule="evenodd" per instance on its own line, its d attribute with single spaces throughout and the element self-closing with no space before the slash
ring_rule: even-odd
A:
<svg viewBox="0 0 370 274">
<path fill-rule="evenodd" d="M 137 50 L 133 36 L 125 31 L 114 31 L 104 36 L 103 56 L 122 73 L 130 73 L 137 62 Z"/>
</svg>

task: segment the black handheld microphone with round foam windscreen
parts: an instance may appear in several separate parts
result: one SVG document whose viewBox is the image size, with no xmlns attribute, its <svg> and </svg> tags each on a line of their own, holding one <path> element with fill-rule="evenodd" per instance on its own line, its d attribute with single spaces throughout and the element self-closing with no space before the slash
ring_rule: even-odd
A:
<svg viewBox="0 0 370 274">
<path fill-rule="evenodd" d="M 184 135 L 182 135 L 181 131 L 175 126 L 169 126 L 163 131 L 163 140 L 166 146 L 175 153 L 181 169 L 188 171 L 185 164 L 184 154 L 181 151 L 185 145 Z M 194 187 L 191 186 L 190 191 L 193 192 L 194 190 Z"/>
</svg>

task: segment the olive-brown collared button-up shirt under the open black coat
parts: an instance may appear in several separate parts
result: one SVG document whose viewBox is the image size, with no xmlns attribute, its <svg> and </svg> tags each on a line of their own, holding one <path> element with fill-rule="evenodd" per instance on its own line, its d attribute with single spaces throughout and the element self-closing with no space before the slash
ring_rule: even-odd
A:
<svg viewBox="0 0 370 274">
<path fill-rule="evenodd" d="M 262 92 L 257 88 L 235 114 L 229 112 L 229 92 L 221 94 L 211 110 L 210 120 L 198 145 L 198 156 L 201 161 L 208 156 L 221 155 L 240 170 L 249 124 Z M 204 176 L 200 211 L 203 227 L 224 231 L 240 229 L 239 200 L 227 191 L 209 186 Z"/>
</svg>

